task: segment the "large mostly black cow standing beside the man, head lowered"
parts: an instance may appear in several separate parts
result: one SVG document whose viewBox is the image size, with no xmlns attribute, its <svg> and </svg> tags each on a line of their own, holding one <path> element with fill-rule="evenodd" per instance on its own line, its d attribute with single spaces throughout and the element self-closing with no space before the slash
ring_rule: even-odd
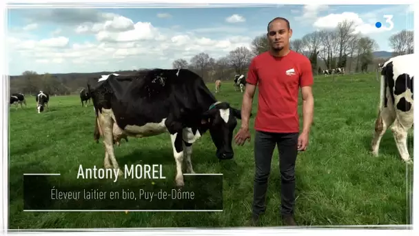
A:
<svg viewBox="0 0 419 236">
<path fill-rule="evenodd" d="M 170 134 L 176 163 L 176 186 L 182 187 L 184 160 L 194 173 L 192 144 L 207 130 L 218 159 L 232 159 L 232 135 L 241 111 L 219 102 L 191 70 L 141 70 L 134 75 L 89 79 L 96 112 L 94 139 L 103 137 L 105 168 L 119 170 L 114 144 L 130 137 Z"/>
</svg>

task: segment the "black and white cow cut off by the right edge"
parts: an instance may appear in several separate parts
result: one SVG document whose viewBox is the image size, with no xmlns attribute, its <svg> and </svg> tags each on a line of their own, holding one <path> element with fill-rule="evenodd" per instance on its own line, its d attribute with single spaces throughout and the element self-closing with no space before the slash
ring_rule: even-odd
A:
<svg viewBox="0 0 419 236">
<path fill-rule="evenodd" d="M 413 54 L 393 57 L 381 70 L 380 111 L 376 119 L 371 150 L 378 155 L 380 140 L 387 128 L 393 132 L 402 160 L 410 162 L 407 132 L 413 126 L 413 77 L 416 60 Z"/>
</svg>

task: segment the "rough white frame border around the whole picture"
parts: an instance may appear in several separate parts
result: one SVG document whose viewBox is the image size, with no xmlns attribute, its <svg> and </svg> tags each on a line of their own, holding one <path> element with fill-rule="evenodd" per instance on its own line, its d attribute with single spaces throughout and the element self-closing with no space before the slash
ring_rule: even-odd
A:
<svg viewBox="0 0 419 236">
<path fill-rule="evenodd" d="M 32 8 L 36 7 L 34 6 L 34 3 L 38 3 L 37 6 L 41 7 L 41 8 L 54 8 L 56 6 L 60 6 L 62 8 L 79 8 L 79 7 L 83 7 L 83 8 L 93 8 L 93 7 L 100 7 L 100 8 L 112 8 L 112 6 L 114 6 L 114 0 L 102 0 L 102 1 L 83 1 L 83 0 L 74 0 L 74 1 L 42 1 L 42 0 L 32 0 L 32 1 L 22 1 L 22 0 L 14 0 L 14 1 L 8 1 L 8 3 L 23 3 L 22 6 L 28 6 L 27 4 L 24 3 L 28 3 L 30 2 L 30 6 Z M 48 2 L 48 3 L 45 3 Z M 161 4 L 161 3 L 165 3 L 167 4 L 166 7 L 173 7 L 173 3 L 185 3 L 187 4 L 189 7 L 206 7 L 207 3 L 218 3 L 217 5 L 220 7 L 225 7 L 224 4 L 221 3 L 232 3 L 231 7 L 238 7 L 238 6 L 243 6 L 243 4 L 249 4 L 249 3 L 254 3 L 254 1 L 249 1 L 249 0 L 229 0 L 229 1 L 223 1 L 223 0 L 212 0 L 212 1 L 203 1 L 203 0 L 194 0 L 194 1 L 187 1 L 187 0 L 173 0 L 173 1 L 143 1 L 143 0 L 136 0 L 136 1 L 117 1 L 118 2 L 118 6 L 119 7 L 145 7 L 144 4 L 150 4 L 150 6 L 156 6 L 157 4 Z M 42 6 L 39 3 L 43 3 Z M 143 3 L 143 5 L 139 5 Z M 287 0 L 287 3 L 285 3 L 285 1 L 274 1 L 274 0 L 259 0 L 258 1 L 258 5 L 260 4 L 283 4 L 283 5 L 300 5 L 300 4 L 312 4 L 313 2 L 311 0 L 295 0 L 295 1 L 291 1 L 291 0 Z M 316 5 L 317 4 L 325 4 L 325 5 L 365 5 L 365 4 L 380 4 L 380 5 L 385 5 L 385 4 L 391 4 L 391 5 L 396 5 L 396 3 L 394 1 L 390 1 L 390 0 L 381 0 L 381 1 L 375 1 L 375 0 L 370 0 L 369 3 L 365 3 L 365 0 L 352 0 L 350 1 L 350 3 L 348 3 L 347 1 L 343 1 L 343 0 L 336 0 L 336 1 L 330 1 L 330 0 L 318 0 L 316 1 Z M 419 5 L 418 3 L 415 3 L 414 0 L 399 0 L 397 1 L 397 5 L 399 4 L 414 4 L 414 10 L 416 12 L 416 10 L 419 10 Z M 1 11 L 1 28 L 3 31 L 3 35 L 6 36 L 7 32 L 6 32 L 6 19 L 5 19 L 5 15 L 6 15 L 6 2 L 1 1 L 0 2 L 1 7 L 3 8 L 3 11 Z M 172 5 L 172 6 L 170 6 Z M 414 26 L 418 26 L 419 25 L 419 21 L 418 21 L 419 17 L 415 14 L 414 16 Z M 4 22 L 3 22 L 4 21 Z M 415 27 L 416 29 L 416 27 Z M 415 33 L 415 37 L 414 37 L 414 50 L 415 52 L 418 51 L 419 49 L 419 37 L 417 35 L 417 33 Z M 2 75 L 2 80 L 0 83 L 0 87 L 1 87 L 1 95 L 3 97 L 3 103 L 1 104 L 2 106 L 2 116 L 1 116 L 1 123 L 2 123 L 2 135 L 1 135 L 1 150 L 2 150 L 2 159 L 1 159 L 1 166 L 2 166 L 2 171 L 1 171 L 1 183 L 2 183 L 2 188 L 1 188 L 1 213 L 2 214 L 2 220 L 1 220 L 1 228 L 3 230 L 2 233 L 11 233 L 14 235 L 25 235 L 28 233 L 28 231 L 31 232 L 37 232 L 37 233 L 32 233 L 33 234 L 37 234 L 37 235 L 45 235 L 48 233 L 54 233 L 54 235 L 64 235 L 64 232 L 74 232 L 74 231 L 79 231 L 79 233 L 81 232 L 88 232 L 89 235 L 114 235 L 114 231 L 120 231 L 121 234 L 123 235 L 138 235 L 138 231 L 141 231 L 141 235 L 243 235 L 243 234 L 254 234 L 254 233 L 263 233 L 264 235 L 278 235 L 278 233 L 310 233 L 311 235 L 349 235 L 349 234 L 353 234 L 353 231 L 355 228 L 375 228 L 375 229 L 358 229 L 356 234 L 362 234 L 362 235 L 369 235 L 371 233 L 378 233 L 380 235 L 401 235 L 402 233 L 411 233 L 413 235 L 413 230 L 416 232 L 418 231 L 418 224 L 419 224 L 419 217 L 413 217 L 413 225 L 416 226 L 413 228 L 413 230 L 402 230 L 402 228 L 411 228 L 411 226 L 396 226 L 396 225 L 391 225 L 391 226 L 335 226 L 335 227 L 328 227 L 329 229 L 323 228 L 320 229 L 322 227 L 297 227 L 294 229 L 291 228 L 287 228 L 287 227 L 278 227 L 278 228 L 222 228 L 222 229 L 218 229 L 218 228 L 210 228 L 209 230 L 205 230 L 205 229 L 196 229 L 196 228 L 94 228 L 94 229 L 57 229 L 57 230 L 10 230 L 9 232 L 7 232 L 7 227 L 8 227 L 8 159 L 9 159 L 9 155 L 8 155 L 8 139 L 9 139 L 9 135 L 8 135 L 8 118 L 9 118 L 9 114 L 8 114 L 8 97 L 9 97 L 9 79 L 8 79 L 8 63 L 6 63 L 6 41 L 4 40 L 4 37 L 1 38 L 1 52 L 2 52 L 2 57 L 1 57 L 1 63 L 0 63 L 0 70 L 1 70 L 1 75 Z M 417 53 L 415 53 L 416 57 Z M 419 61 L 419 58 L 418 60 Z M 418 85 L 416 85 L 418 86 Z M 7 90 L 6 90 L 7 89 Z M 414 117 L 418 117 L 418 111 L 415 111 L 414 113 Z M 416 135 L 416 129 L 413 131 L 414 134 Z M 416 146 L 418 143 L 418 141 L 414 141 L 414 146 Z M 414 155 L 417 154 L 417 149 L 418 148 L 414 148 Z M 414 156 L 413 155 L 413 156 Z M 418 164 L 413 164 L 413 171 L 417 171 L 418 169 Z M 413 175 L 413 193 L 418 191 L 418 174 Z M 416 191 L 415 191 L 416 190 Z M 413 199 L 417 199 L 417 195 L 413 195 Z M 413 213 L 418 213 L 418 208 L 419 208 L 419 204 L 413 205 Z M 330 228 L 334 228 L 334 230 L 331 230 Z M 347 229 L 343 229 L 343 228 L 347 228 Z M 349 228 L 353 229 L 353 230 L 348 230 Z M 387 230 L 384 228 L 392 228 L 392 230 Z M 398 229 L 396 229 L 398 228 Z M 134 232 L 136 231 L 136 233 Z M 348 232 L 349 231 L 349 232 Z M 19 233 L 21 232 L 21 233 Z M 23 233 L 25 232 L 25 233 Z M 214 233 L 212 233 L 214 232 Z M 85 233 L 86 234 L 86 233 Z M 416 235 L 418 235 L 418 232 L 416 232 Z"/>
</svg>

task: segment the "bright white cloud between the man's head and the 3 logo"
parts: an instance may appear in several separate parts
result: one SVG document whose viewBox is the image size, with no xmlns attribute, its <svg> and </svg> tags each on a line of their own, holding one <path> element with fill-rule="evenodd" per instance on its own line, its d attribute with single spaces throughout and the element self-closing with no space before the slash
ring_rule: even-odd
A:
<svg viewBox="0 0 419 236">
<path fill-rule="evenodd" d="M 354 33 L 362 33 L 362 34 L 372 34 L 378 32 L 385 32 L 387 31 L 387 26 L 383 25 L 381 28 L 376 28 L 375 22 L 369 23 L 363 21 L 360 16 L 355 12 L 343 12 L 340 14 L 328 14 L 325 17 L 318 18 L 314 23 L 313 26 L 316 28 L 336 28 L 338 23 L 343 21 L 353 21 L 355 24 L 355 32 Z"/>
</svg>

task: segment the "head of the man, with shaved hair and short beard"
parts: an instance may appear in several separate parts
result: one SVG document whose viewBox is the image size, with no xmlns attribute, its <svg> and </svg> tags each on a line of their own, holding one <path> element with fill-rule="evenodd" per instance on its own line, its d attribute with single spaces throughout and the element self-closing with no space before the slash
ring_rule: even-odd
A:
<svg viewBox="0 0 419 236">
<path fill-rule="evenodd" d="M 283 50 L 285 46 L 289 45 L 291 35 L 292 30 L 288 30 L 287 22 L 276 20 L 270 24 L 269 32 L 267 32 L 269 46 L 276 51 Z"/>
</svg>

